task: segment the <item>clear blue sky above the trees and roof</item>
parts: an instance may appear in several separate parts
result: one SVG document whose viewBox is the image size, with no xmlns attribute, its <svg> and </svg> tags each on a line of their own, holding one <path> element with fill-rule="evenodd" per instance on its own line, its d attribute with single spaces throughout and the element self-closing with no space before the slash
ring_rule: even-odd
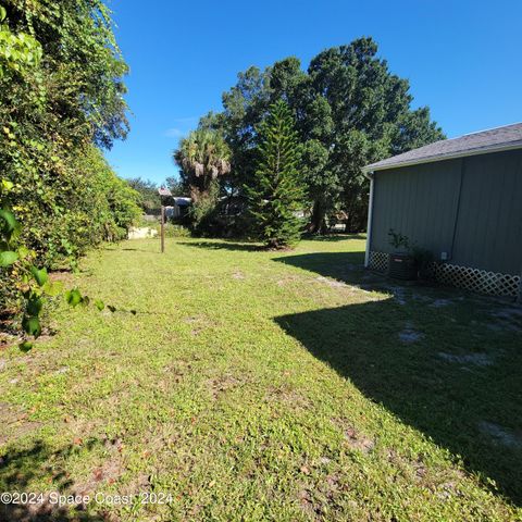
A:
<svg viewBox="0 0 522 522">
<path fill-rule="evenodd" d="M 372 36 L 448 137 L 522 121 L 520 0 L 112 0 L 130 66 L 130 134 L 107 158 L 123 177 L 175 175 L 172 150 L 250 65 Z"/>
</svg>

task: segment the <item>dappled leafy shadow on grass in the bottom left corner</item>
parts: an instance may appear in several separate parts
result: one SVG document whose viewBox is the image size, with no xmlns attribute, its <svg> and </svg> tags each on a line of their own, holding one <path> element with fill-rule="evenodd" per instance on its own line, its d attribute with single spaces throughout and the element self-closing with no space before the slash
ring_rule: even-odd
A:
<svg viewBox="0 0 522 522">
<path fill-rule="evenodd" d="M 0 490 L 9 493 L 44 494 L 44 498 L 34 497 L 32 502 L 17 498 L 11 504 L 0 504 L 0 521 L 10 522 L 102 522 L 101 517 L 90 515 L 82 511 L 82 507 L 70 510 L 51 501 L 46 494 L 57 492 L 60 495 L 76 495 L 73 482 L 70 480 L 61 462 L 80 450 L 90 450 L 98 444 L 92 439 L 83 449 L 69 445 L 60 450 L 52 450 L 41 440 L 36 440 L 30 447 L 16 448 L 13 444 L 0 458 Z M 47 483 L 44 492 L 32 488 L 33 481 Z"/>
</svg>

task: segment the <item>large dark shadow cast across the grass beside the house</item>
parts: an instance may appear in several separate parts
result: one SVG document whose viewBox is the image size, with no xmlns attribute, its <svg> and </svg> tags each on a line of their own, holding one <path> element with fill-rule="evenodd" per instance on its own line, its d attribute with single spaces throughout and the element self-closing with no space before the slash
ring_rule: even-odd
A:
<svg viewBox="0 0 522 522">
<path fill-rule="evenodd" d="M 436 309 L 386 299 L 275 321 L 370 400 L 460 456 L 485 487 L 520 506 L 521 333 L 490 330 L 480 314 L 473 301 Z"/>
</svg>

